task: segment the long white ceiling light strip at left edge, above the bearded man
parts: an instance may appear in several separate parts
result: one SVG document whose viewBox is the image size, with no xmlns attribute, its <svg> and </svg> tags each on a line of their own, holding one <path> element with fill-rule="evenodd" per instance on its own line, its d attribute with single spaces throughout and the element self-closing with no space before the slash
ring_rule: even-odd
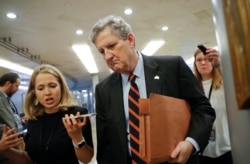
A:
<svg viewBox="0 0 250 164">
<path fill-rule="evenodd" d="M 27 67 L 23 67 L 21 65 L 12 63 L 10 61 L 4 60 L 4 59 L 0 59 L 0 67 L 4 67 L 10 70 L 14 70 L 20 73 L 24 73 L 27 75 L 31 75 L 33 73 L 33 70 Z"/>
</svg>

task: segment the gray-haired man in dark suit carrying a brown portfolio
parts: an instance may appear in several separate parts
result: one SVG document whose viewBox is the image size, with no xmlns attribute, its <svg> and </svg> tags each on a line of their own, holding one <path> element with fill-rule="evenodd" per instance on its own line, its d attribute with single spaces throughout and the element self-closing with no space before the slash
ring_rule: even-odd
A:
<svg viewBox="0 0 250 164">
<path fill-rule="evenodd" d="M 100 19 L 90 39 L 114 71 L 95 89 L 98 163 L 131 163 L 128 137 L 130 74 L 137 76 L 141 98 L 157 93 L 185 99 L 191 106 L 186 139 L 179 142 L 168 162 L 186 163 L 193 153 L 202 152 L 208 143 L 215 112 L 184 60 L 178 56 L 148 57 L 136 51 L 130 25 L 114 15 Z"/>
</svg>

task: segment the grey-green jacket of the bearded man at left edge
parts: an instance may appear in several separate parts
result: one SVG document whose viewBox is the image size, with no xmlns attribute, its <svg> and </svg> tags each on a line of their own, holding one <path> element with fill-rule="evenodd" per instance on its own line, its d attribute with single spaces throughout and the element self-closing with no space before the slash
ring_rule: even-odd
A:
<svg viewBox="0 0 250 164">
<path fill-rule="evenodd" d="M 15 118 L 11 109 L 11 106 L 5 97 L 4 93 L 0 91 L 0 136 L 2 137 L 3 133 L 3 124 L 6 124 L 10 128 L 16 128 L 17 129 L 17 124 L 15 122 Z M 0 155 L 0 163 L 1 160 L 4 159 Z"/>
</svg>

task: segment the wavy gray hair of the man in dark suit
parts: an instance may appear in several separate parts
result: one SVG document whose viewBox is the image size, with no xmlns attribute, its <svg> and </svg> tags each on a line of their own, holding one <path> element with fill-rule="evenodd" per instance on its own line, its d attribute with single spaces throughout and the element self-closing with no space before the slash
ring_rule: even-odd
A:
<svg viewBox="0 0 250 164">
<path fill-rule="evenodd" d="M 97 35 L 106 27 L 110 27 L 111 32 L 117 37 L 126 40 L 128 33 L 132 32 L 131 26 L 121 17 L 115 15 L 108 15 L 99 19 L 92 27 L 89 39 L 95 44 Z"/>
</svg>

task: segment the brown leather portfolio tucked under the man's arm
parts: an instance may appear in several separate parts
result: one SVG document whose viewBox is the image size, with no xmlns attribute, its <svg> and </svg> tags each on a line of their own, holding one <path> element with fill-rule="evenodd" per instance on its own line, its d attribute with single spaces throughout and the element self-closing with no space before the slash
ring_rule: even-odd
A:
<svg viewBox="0 0 250 164">
<path fill-rule="evenodd" d="M 183 99 L 152 93 L 148 99 L 139 100 L 139 107 L 141 158 L 150 164 L 168 161 L 187 135 L 189 104 Z"/>
</svg>

